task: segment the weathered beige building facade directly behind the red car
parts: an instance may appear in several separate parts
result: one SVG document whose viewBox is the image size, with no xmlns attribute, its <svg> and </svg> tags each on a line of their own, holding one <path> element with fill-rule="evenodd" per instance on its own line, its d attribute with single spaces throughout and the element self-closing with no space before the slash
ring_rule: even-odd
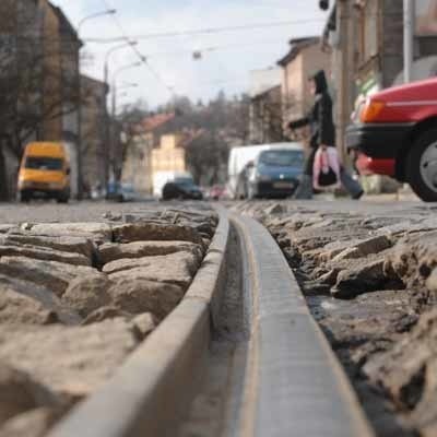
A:
<svg viewBox="0 0 437 437">
<path fill-rule="evenodd" d="M 338 142 L 346 162 L 344 135 L 357 103 L 403 82 L 403 1 L 338 0 L 332 3 L 322 45 L 331 56 Z M 437 73 L 437 26 L 434 25 L 437 1 L 417 0 L 415 8 L 412 70 L 413 80 L 420 80 Z M 369 180 L 370 191 L 395 188 L 388 178 Z"/>
</svg>

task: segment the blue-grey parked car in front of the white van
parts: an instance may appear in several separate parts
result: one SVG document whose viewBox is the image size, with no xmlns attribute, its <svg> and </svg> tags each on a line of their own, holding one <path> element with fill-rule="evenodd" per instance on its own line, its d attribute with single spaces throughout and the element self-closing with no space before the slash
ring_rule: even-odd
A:
<svg viewBox="0 0 437 437">
<path fill-rule="evenodd" d="M 264 150 L 249 164 L 248 198 L 286 198 L 293 196 L 304 168 L 300 144 Z"/>
</svg>

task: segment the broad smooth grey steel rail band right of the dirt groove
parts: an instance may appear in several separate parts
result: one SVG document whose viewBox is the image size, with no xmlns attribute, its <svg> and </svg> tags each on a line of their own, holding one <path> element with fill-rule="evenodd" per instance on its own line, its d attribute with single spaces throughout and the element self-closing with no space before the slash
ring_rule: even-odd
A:
<svg viewBox="0 0 437 437">
<path fill-rule="evenodd" d="M 374 437 L 277 244 L 255 220 L 231 220 L 248 255 L 253 311 L 239 435 Z"/>
</svg>

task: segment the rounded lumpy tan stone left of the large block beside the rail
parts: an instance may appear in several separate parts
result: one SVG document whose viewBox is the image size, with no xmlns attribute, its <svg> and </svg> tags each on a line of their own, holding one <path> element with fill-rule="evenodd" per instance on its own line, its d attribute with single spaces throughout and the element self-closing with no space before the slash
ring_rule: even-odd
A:
<svg viewBox="0 0 437 437">
<path fill-rule="evenodd" d="M 91 277 L 79 276 L 70 282 L 62 295 L 62 302 L 86 318 L 96 309 L 111 303 L 107 292 L 109 286 L 110 282 L 107 275 L 103 273 Z"/>
</svg>

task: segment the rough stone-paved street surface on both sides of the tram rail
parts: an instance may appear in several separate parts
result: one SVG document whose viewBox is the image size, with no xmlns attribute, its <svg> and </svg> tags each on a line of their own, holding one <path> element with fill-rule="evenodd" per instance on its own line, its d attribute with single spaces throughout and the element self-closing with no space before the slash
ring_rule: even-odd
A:
<svg viewBox="0 0 437 437">
<path fill-rule="evenodd" d="M 377 435 L 436 435 L 437 206 L 387 198 L 226 206 L 276 238 Z M 1 204 L 0 436 L 44 435 L 101 387 L 180 302 L 216 220 L 203 202 Z M 229 298 L 224 322 L 238 326 L 240 304 Z M 203 399 L 214 401 L 225 380 L 228 347 L 213 344 Z"/>
</svg>

